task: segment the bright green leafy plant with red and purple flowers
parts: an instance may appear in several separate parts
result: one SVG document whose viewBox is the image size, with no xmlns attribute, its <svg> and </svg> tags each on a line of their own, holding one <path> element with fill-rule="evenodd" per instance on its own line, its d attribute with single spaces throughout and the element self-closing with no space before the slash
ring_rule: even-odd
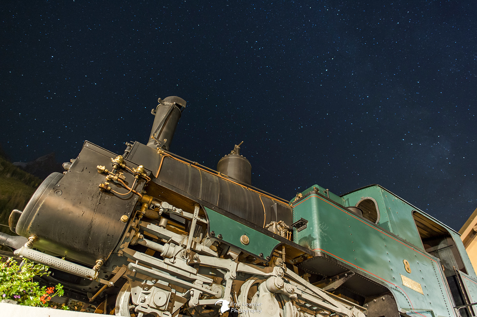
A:
<svg viewBox="0 0 477 317">
<path fill-rule="evenodd" d="M 9 258 L 1 263 L 0 269 L 0 297 L 1 299 L 11 299 L 20 305 L 47 307 L 53 296 L 63 295 L 61 284 L 55 287 L 41 287 L 38 282 L 33 281 L 34 276 L 48 275 L 48 267 L 35 264 L 27 259 L 23 260 L 23 265 L 18 266 L 17 262 Z M 63 309 L 68 309 L 63 306 Z"/>
</svg>

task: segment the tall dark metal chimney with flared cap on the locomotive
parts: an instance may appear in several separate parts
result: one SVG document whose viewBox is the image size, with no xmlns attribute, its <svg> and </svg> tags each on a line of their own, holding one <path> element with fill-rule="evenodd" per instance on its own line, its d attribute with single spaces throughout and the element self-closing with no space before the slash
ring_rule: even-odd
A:
<svg viewBox="0 0 477 317">
<path fill-rule="evenodd" d="M 152 109 L 151 113 L 156 116 L 151 129 L 151 135 L 147 146 L 151 148 L 161 148 L 169 150 L 174 132 L 176 132 L 177 122 L 184 108 L 186 101 L 177 96 L 170 96 L 158 99 L 156 109 Z"/>
</svg>

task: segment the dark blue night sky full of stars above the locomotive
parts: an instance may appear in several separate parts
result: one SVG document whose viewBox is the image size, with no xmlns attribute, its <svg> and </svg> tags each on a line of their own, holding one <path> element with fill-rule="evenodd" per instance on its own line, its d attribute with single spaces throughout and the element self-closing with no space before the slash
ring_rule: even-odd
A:
<svg viewBox="0 0 477 317">
<path fill-rule="evenodd" d="M 0 140 L 12 161 L 147 143 L 290 199 L 380 184 L 458 230 L 477 207 L 476 1 L 2 1 Z"/>
</svg>

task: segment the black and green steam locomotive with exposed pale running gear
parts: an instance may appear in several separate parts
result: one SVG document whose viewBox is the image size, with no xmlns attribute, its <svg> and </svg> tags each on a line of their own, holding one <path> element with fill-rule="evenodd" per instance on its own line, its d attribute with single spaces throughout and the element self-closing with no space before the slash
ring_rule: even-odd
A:
<svg viewBox="0 0 477 317">
<path fill-rule="evenodd" d="M 117 316 L 475 316 L 458 234 L 379 185 L 282 199 L 250 185 L 240 144 L 217 171 L 169 151 L 186 101 L 159 99 L 147 145 L 85 141 L 0 242 L 46 283 Z"/>
</svg>

